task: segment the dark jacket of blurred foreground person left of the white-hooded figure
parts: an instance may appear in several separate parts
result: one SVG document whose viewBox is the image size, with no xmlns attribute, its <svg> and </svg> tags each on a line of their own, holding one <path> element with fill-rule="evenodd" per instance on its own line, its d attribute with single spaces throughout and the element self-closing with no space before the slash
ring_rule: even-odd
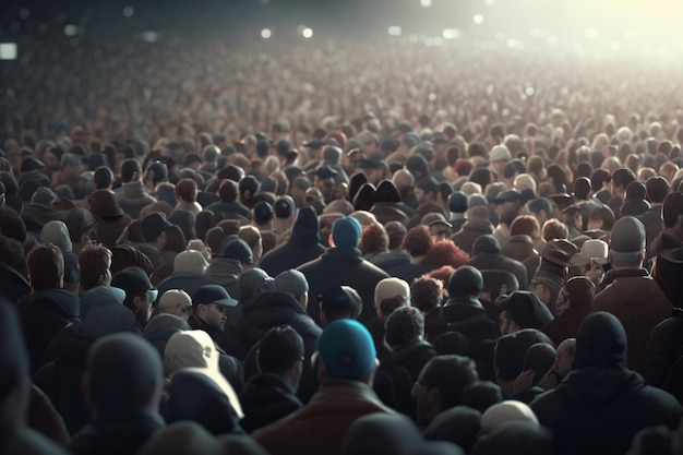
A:
<svg viewBox="0 0 683 455">
<path fill-rule="evenodd" d="M 101 415 L 73 436 L 69 450 L 73 455 L 134 454 L 164 427 L 158 414 Z"/>
</svg>

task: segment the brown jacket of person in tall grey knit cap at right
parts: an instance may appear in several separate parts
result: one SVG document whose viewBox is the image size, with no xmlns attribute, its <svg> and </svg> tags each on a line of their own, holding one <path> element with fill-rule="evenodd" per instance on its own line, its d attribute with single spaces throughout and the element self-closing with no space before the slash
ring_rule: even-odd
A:
<svg viewBox="0 0 683 455">
<path fill-rule="evenodd" d="M 650 332 L 673 306 L 645 268 L 610 271 L 604 279 L 610 284 L 596 296 L 592 311 L 607 311 L 621 321 L 628 342 L 628 368 L 645 374 Z"/>
</svg>

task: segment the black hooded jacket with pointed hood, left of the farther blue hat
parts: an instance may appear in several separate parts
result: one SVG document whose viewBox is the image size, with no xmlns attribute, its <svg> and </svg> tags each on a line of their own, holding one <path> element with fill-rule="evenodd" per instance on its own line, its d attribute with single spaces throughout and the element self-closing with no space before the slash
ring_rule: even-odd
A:
<svg viewBox="0 0 683 455">
<path fill-rule="evenodd" d="M 271 276 L 320 258 L 327 249 L 320 242 L 320 223 L 312 207 L 299 209 L 289 240 L 264 254 L 259 266 Z"/>
</svg>

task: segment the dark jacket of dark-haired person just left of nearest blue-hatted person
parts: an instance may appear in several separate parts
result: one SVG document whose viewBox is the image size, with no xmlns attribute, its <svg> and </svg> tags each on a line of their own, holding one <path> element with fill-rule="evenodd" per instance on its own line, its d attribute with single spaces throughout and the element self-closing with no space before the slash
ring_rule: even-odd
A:
<svg viewBox="0 0 683 455">
<path fill-rule="evenodd" d="M 241 426 L 251 433 L 299 409 L 303 404 L 283 380 L 271 373 L 250 379 L 240 394 L 244 418 Z"/>
</svg>

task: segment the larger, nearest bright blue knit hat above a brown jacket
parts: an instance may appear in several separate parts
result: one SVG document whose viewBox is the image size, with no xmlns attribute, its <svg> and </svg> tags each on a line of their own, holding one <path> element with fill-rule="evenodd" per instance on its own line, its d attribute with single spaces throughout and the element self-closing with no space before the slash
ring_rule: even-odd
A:
<svg viewBox="0 0 683 455">
<path fill-rule="evenodd" d="M 352 320 L 329 323 L 317 337 L 315 350 L 331 378 L 357 380 L 372 372 L 376 351 L 364 325 Z"/>
</svg>

